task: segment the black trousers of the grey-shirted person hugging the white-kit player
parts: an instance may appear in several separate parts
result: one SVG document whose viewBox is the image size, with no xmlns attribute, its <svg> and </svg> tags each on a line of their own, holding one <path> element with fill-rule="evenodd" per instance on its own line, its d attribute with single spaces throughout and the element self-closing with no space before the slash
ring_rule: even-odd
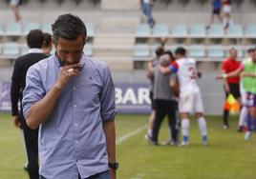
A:
<svg viewBox="0 0 256 179">
<path fill-rule="evenodd" d="M 160 125 L 167 114 L 169 128 L 172 130 L 172 140 L 174 142 L 178 141 L 178 129 L 176 128 L 176 102 L 174 100 L 155 100 L 156 107 L 156 119 L 153 125 L 153 137 L 154 142 L 158 142 L 158 136 L 160 132 Z"/>
</svg>

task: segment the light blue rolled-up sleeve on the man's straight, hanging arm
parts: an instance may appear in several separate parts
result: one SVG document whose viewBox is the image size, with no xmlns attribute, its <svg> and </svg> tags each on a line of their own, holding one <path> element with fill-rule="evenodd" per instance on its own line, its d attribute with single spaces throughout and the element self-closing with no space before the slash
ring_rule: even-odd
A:
<svg viewBox="0 0 256 179">
<path fill-rule="evenodd" d="M 112 80 L 110 70 L 105 67 L 103 69 L 103 87 L 100 92 L 100 104 L 101 104 L 101 119 L 103 122 L 113 121 L 117 114 L 116 109 L 116 92 L 115 86 Z"/>
</svg>

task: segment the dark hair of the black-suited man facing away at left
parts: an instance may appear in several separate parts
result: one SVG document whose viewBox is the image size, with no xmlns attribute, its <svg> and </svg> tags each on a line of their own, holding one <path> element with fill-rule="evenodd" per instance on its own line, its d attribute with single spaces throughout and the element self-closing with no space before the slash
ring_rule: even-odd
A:
<svg viewBox="0 0 256 179">
<path fill-rule="evenodd" d="M 42 30 L 30 30 L 27 35 L 28 46 L 36 49 L 41 49 L 44 43 L 44 33 Z"/>
</svg>

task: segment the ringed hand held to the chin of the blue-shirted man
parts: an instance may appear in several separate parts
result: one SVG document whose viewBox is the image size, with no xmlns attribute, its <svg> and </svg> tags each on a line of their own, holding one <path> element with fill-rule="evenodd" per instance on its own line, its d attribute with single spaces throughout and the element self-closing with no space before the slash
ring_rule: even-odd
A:
<svg viewBox="0 0 256 179">
<path fill-rule="evenodd" d="M 78 76 L 79 75 L 78 68 L 79 68 L 78 64 L 61 67 L 58 72 L 58 77 L 56 81 L 58 88 L 63 89 L 72 76 Z"/>
</svg>

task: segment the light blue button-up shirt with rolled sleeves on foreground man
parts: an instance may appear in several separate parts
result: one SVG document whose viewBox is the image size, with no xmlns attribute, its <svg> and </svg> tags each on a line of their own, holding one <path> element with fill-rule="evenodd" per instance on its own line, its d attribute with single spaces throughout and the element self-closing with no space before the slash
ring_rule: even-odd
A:
<svg viewBox="0 0 256 179">
<path fill-rule="evenodd" d="M 103 62 L 82 55 L 79 64 L 79 76 L 71 77 L 39 128 L 39 173 L 47 179 L 77 179 L 78 172 L 86 178 L 109 169 L 102 123 L 113 121 L 117 113 L 115 87 Z M 53 55 L 28 70 L 22 101 L 25 117 L 53 87 L 59 68 Z"/>
</svg>

